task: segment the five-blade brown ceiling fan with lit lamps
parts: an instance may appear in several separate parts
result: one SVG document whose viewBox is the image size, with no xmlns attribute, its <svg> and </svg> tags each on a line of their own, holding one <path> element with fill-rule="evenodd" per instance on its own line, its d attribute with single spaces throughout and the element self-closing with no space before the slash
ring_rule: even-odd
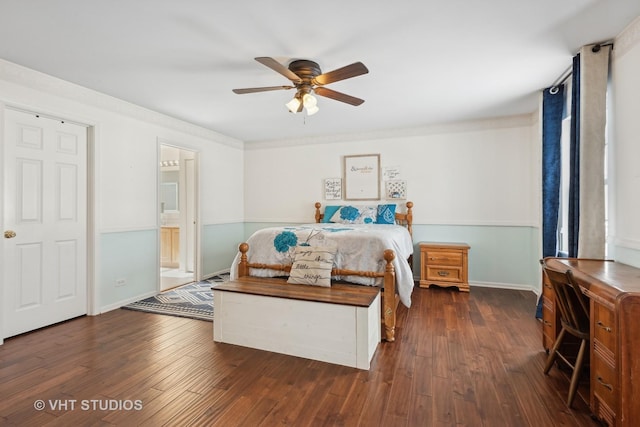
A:
<svg viewBox="0 0 640 427">
<path fill-rule="evenodd" d="M 355 106 L 364 102 L 364 99 L 356 98 L 355 96 L 347 95 L 324 87 L 324 85 L 329 83 L 367 74 L 369 70 L 362 62 L 354 62 L 353 64 L 329 71 L 328 73 L 322 73 L 320 66 L 316 62 L 307 59 L 291 61 L 288 67 L 285 67 L 275 59 L 268 56 L 261 56 L 255 58 L 255 60 L 288 78 L 291 83 L 293 83 L 293 86 L 267 86 L 233 89 L 234 93 L 243 94 L 267 92 L 271 90 L 296 89 L 295 96 L 286 104 L 286 106 L 292 113 L 299 113 L 304 107 L 307 109 L 308 115 L 318 112 L 318 107 L 316 105 L 317 101 L 312 93 Z"/>
</svg>

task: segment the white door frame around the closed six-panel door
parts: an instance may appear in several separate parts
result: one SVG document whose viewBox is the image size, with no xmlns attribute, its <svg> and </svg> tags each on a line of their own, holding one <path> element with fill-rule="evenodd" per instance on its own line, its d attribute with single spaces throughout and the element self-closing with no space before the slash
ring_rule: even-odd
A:
<svg viewBox="0 0 640 427">
<path fill-rule="evenodd" d="M 34 107 L 32 105 L 22 105 L 15 102 L 6 102 L 4 99 L 0 99 L 0 165 L 2 165 L 2 173 L 0 173 L 0 224 L 4 225 L 4 130 L 5 130 L 5 110 L 11 109 L 14 111 L 20 111 L 27 114 L 37 114 L 41 117 L 47 117 L 55 120 L 64 120 L 65 122 L 74 123 L 83 126 L 87 129 L 87 218 L 86 218 L 86 245 L 87 245 L 87 259 L 86 259 L 86 282 L 87 282 L 87 316 L 95 316 L 98 313 L 97 307 L 97 292 L 96 292 L 96 273 L 97 273 L 97 256 L 98 249 L 96 246 L 96 203 L 97 192 L 96 190 L 96 170 L 95 165 L 97 155 L 97 142 L 99 129 L 95 121 L 80 118 L 70 117 L 59 112 L 50 111 L 41 107 Z M 3 230 L 4 231 L 4 230 Z M 0 245 L 0 270 L 4 268 L 4 245 Z M 4 283 L 3 278 L 0 276 L 0 297 L 4 300 Z M 4 316 L 0 314 L 0 345 L 4 344 Z"/>
</svg>

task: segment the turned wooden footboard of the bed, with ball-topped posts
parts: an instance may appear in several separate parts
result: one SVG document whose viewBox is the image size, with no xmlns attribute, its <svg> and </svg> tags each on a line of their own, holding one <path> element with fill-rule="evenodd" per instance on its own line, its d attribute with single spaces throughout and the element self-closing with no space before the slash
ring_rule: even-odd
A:
<svg viewBox="0 0 640 427">
<path fill-rule="evenodd" d="M 238 247 L 240 251 L 240 262 L 238 263 L 238 278 L 248 277 L 249 269 L 269 269 L 275 271 L 282 271 L 283 273 L 289 273 L 291 271 L 291 265 L 281 264 L 256 264 L 250 263 L 247 259 L 247 252 L 249 251 L 248 243 L 241 243 Z M 384 272 L 377 271 L 356 271 L 334 268 L 331 270 L 331 276 L 360 276 L 371 278 L 382 278 L 383 293 L 382 293 L 382 326 L 383 326 L 383 339 L 385 341 L 395 341 L 396 330 L 396 309 L 398 307 L 399 297 L 396 292 L 396 271 L 393 267 L 393 260 L 396 254 L 391 249 L 386 249 L 383 253 L 383 258 L 386 262 Z M 283 278 L 274 278 L 274 280 L 283 280 Z M 366 286 L 366 285 L 363 285 Z"/>
</svg>

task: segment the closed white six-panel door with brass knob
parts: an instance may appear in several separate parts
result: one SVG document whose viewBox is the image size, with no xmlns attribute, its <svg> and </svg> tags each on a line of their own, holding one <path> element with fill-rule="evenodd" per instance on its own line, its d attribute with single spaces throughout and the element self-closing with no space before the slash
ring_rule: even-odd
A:
<svg viewBox="0 0 640 427">
<path fill-rule="evenodd" d="M 87 313 L 87 129 L 5 110 L 3 337 Z"/>
</svg>

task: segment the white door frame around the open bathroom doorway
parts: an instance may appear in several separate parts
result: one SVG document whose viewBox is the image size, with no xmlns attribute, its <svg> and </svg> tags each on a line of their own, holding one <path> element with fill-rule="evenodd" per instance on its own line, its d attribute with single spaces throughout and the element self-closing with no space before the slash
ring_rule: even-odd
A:
<svg viewBox="0 0 640 427">
<path fill-rule="evenodd" d="M 193 271 L 193 280 L 195 280 L 196 282 L 202 280 L 202 262 L 200 259 L 200 254 L 201 254 L 201 248 L 200 248 L 200 242 L 201 242 L 201 227 L 200 227 L 200 150 L 194 146 L 190 146 L 188 144 L 184 144 L 184 143 L 178 143 L 175 141 L 170 141 L 164 138 L 158 138 L 157 139 L 157 162 L 156 162 L 156 167 L 157 167 L 157 182 L 156 182 L 156 194 L 157 194 L 157 203 L 156 203 L 156 218 L 157 218 L 157 242 L 158 242 L 158 250 L 157 250 L 157 268 L 156 268 L 156 274 L 157 274 L 157 284 L 158 284 L 158 291 L 161 290 L 161 278 L 160 278 L 160 270 L 161 270 L 161 266 L 160 266 L 160 229 L 162 226 L 162 223 L 160 221 L 160 183 L 161 183 L 161 174 L 162 174 L 162 170 L 161 170 L 161 166 L 160 166 L 160 162 L 162 160 L 161 157 L 161 149 L 162 146 L 166 145 L 169 147 L 173 147 L 176 148 L 178 150 L 184 150 L 184 151 L 190 151 L 193 153 L 193 165 L 194 165 L 194 171 L 193 171 L 193 175 L 194 175 L 194 182 L 193 182 L 193 195 L 194 195 L 194 233 L 193 233 L 193 242 L 191 242 L 191 246 L 193 248 L 193 263 L 194 263 L 194 271 Z M 180 233 L 183 234 L 183 233 Z M 186 233 L 185 233 L 186 235 Z M 181 251 L 182 253 L 182 251 Z M 182 255 L 181 255 L 182 256 Z"/>
</svg>

